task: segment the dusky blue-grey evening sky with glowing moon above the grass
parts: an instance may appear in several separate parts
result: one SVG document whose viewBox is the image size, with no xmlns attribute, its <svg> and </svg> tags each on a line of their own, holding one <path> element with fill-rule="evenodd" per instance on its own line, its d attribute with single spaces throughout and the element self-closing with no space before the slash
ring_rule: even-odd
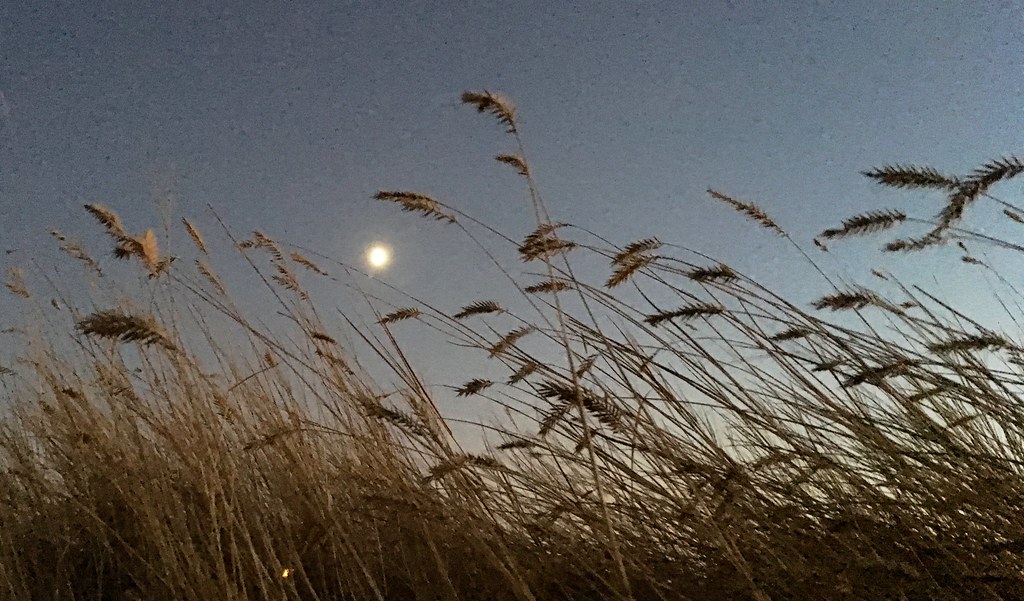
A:
<svg viewBox="0 0 1024 601">
<path fill-rule="evenodd" d="M 810 303 L 828 289 L 801 256 L 706 189 L 757 203 L 809 253 L 857 213 L 931 217 L 941 198 L 859 172 L 966 173 L 1020 151 L 1024 3 L 3 2 L 0 267 L 46 264 L 53 228 L 101 248 L 85 203 L 153 225 L 155 182 L 171 182 L 207 231 L 211 205 L 241 234 L 353 264 L 386 242 L 380 280 L 457 308 L 494 286 L 479 251 L 373 195 L 527 233 L 522 183 L 493 161 L 511 140 L 459 101 L 481 89 L 518 108 L 555 219 L 697 249 Z M 998 208 L 974 213 L 1012 232 Z M 886 240 L 814 257 L 850 281 L 905 268 L 977 290 L 954 251 L 901 263 Z"/>
</svg>

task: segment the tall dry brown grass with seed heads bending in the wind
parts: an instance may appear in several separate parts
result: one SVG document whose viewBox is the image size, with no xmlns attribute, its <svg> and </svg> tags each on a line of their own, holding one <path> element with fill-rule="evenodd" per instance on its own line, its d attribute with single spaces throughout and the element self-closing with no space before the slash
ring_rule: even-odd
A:
<svg viewBox="0 0 1024 601">
<path fill-rule="evenodd" d="M 807 308 L 668 242 L 552 222 L 511 104 L 463 101 L 506 129 L 497 160 L 522 176 L 537 228 L 511 237 L 415 192 L 377 200 L 506 245 L 540 274 L 515 298 L 444 312 L 368 297 L 379 313 L 361 326 L 309 285 L 358 280 L 350 265 L 217 219 L 183 219 L 195 248 L 172 260 L 98 205 L 127 265 L 55 233 L 88 286 L 8 274 L 37 317 L 3 325 L 23 350 L 0 367 L 0 598 L 1024 598 L 1012 335 L 882 272 L 885 293 L 837 285 Z M 871 170 L 945 208 L 853 216 L 815 243 L 909 222 L 923 235 L 889 243 L 894 258 L 1024 250 L 963 223 L 976 202 L 1024 222 L 990 194 L 1022 172 Z M 764 209 L 709 192 L 804 253 Z M 264 285 L 265 314 L 218 278 L 210 231 Z M 488 248 L 480 260 L 500 264 Z M 606 272 L 578 275 L 583 257 Z M 453 393 L 506 416 L 481 424 L 485 448 L 453 434 L 398 342 L 410 327 L 505 374 L 467 373 Z"/>
</svg>

